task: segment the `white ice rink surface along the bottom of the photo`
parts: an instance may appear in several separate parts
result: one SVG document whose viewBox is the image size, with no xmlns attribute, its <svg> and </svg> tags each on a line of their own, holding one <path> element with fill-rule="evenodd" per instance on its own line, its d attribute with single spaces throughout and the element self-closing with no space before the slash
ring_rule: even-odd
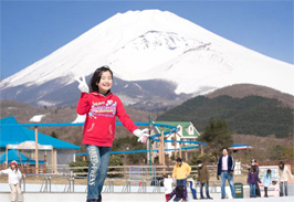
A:
<svg viewBox="0 0 294 202">
<path fill-rule="evenodd" d="M 228 188 L 229 191 L 229 188 Z M 248 189 L 244 189 L 244 199 L 220 199 L 220 192 L 210 193 L 213 200 L 193 200 L 191 193 L 188 193 L 190 202 L 211 201 L 211 202 L 293 202 L 294 184 L 288 184 L 288 196 L 283 198 L 248 198 Z M 165 202 L 165 193 L 103 193 L 103 202 Z M 199 198 L 199 192 L 197 192 Z M 0 202 L 10 202 L 10 192 L 8 184 L 0 184 Z M 69 192 L 25 192 L 23 193 L 23 202 L 86 202 L 86 192 L 69 193 Z"/>
</svg>

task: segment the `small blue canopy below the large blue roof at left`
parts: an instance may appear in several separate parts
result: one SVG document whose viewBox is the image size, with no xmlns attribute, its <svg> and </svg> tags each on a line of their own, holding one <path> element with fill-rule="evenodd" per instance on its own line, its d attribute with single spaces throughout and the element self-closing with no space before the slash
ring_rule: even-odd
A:
<svg viewBox="0 0 294 202">
<path fill-rule="evenodd" d="M 8 157 L 8 163 L 10 163 L 11 161 L 15 160 L 18 163 L 29 163 L 29 164 L 35 164 L 35 160 L 22 155 L 20 151 L 15 150 L 15 149 L 11 149 L 8 151 L 8 153 L 3 153 L 0 156 L 0 163 L 3 163 L 7 161 L 7 157 Z M 40 160 L 39 161 L 40 164 L 44 164 L 44 161 Z"/>
</svg>

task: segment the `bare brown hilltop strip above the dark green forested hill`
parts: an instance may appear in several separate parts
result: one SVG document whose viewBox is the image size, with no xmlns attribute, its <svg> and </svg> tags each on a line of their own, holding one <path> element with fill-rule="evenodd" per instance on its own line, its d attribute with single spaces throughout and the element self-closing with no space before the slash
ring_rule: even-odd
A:
<svg viewBox="0 0 294 202">
<path fill-rule="evenodd" d="M 213 98 L 220 95 L 229 95 L 231 97 L 238 97 L 238 98 L 243 98 L 250 95 L 258 95 L 258 96 L 267 97 L 267 98 L 276 98 L 285 107 L 290 107 L 294 109 L 294 96 L 279 92 L 276 89 L 273 89 L 266 86 L 260 86 L 260 85 L 253 85 L 253 84 L 235 84 L 235 85 L 227 86 L 223 88 L 219 88 L 204 96 L 209 98 Z"/>
</svg>

